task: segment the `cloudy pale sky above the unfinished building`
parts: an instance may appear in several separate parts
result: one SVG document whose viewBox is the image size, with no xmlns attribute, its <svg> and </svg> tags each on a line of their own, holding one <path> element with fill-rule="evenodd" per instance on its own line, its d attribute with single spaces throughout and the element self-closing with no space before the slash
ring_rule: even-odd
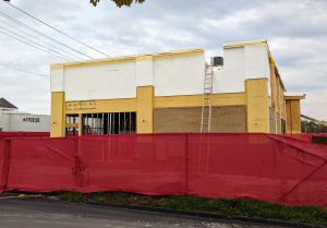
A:
<svg viewBox="0 0 327 228">
<path fill-rule="evenodd" d="M 288 93 L 306 94 L 302 112 L 327 120 L 326 0 L 147 0 L 121 9 L 110 0 L 97 8 L 88 0 L 11 2 L 110 57 L 193 47 L 210 57 L 221 55 L 226 43 L 267 39 Z M 49 67 L 66 60 L 4 35 L 53 45 L 31 31 L 22 34 L 3 13 L 84 55 L 104 56 L 0 2 L 0 97 L 22 111 L 50 113 Z"/>
</svg>

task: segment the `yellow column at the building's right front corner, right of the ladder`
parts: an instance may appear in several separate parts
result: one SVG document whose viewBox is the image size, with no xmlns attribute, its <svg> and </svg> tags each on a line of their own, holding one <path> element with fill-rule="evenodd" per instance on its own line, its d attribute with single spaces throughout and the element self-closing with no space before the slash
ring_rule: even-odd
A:
<svg viewBox="0 0 327 228">
<path fill-rule="evenodd" d="M 247 132 L 269 133 L 268 80 L 245 81 Z"/>
</svg>

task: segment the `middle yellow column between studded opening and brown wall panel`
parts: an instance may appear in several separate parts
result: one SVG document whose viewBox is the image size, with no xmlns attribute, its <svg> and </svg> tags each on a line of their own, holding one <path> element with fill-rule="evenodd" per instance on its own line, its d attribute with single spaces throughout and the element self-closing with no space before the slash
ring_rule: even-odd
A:
<svg viewBox="0 0 327 228">
<path fill-rule="evenodd" d="M 154 86 L 137 87 L 137 133 L 154 132 Z"/>
</svg>

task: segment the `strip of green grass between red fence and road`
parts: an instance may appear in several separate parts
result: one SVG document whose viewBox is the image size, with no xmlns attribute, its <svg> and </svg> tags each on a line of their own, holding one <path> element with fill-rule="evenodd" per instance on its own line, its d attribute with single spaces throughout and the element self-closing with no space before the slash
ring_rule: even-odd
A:
<svg viewBox="0 0 327 228">
<path fill-rule="evenodd" d="M 87 203 L 110 202 L 172 208 L 187 212 L 214 213 L 228 217 L 279 219 L 327 227 L 327 209 L 313 206 L 288 207 L 253 200 L 225 200 L 195 196 L 147 196 L 123 192 L 58 194 L 60 200 Z"/>
</svg>

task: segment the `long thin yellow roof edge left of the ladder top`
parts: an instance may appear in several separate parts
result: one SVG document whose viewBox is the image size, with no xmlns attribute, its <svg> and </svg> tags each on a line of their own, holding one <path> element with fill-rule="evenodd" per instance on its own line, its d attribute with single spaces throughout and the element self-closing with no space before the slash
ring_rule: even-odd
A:
<svg viewBox="0 0 327 228">
<path fill-rule="evenodd" d="M 171 58 L 171 57 L 193 56 L 193 55 L 198 55 L 198 53 L 203 53 L 203 52 L 204 52 L 203 48 L 194 48 L 194 49 L 175 50 L 175 51 L 161 52 L 161 53 L 147 53 L 147 55 L 113 57 L 113 58 L 96 59 L 96 60 L 82 61 L 82 62 L 65 62 L 65 63 L 52 64 L 51 70 L 63 69 L 63 68 L 99 65 L 99 64 L 135 61 L 135 60 L 148 60 L 152 58 Z"/>
</svg>

